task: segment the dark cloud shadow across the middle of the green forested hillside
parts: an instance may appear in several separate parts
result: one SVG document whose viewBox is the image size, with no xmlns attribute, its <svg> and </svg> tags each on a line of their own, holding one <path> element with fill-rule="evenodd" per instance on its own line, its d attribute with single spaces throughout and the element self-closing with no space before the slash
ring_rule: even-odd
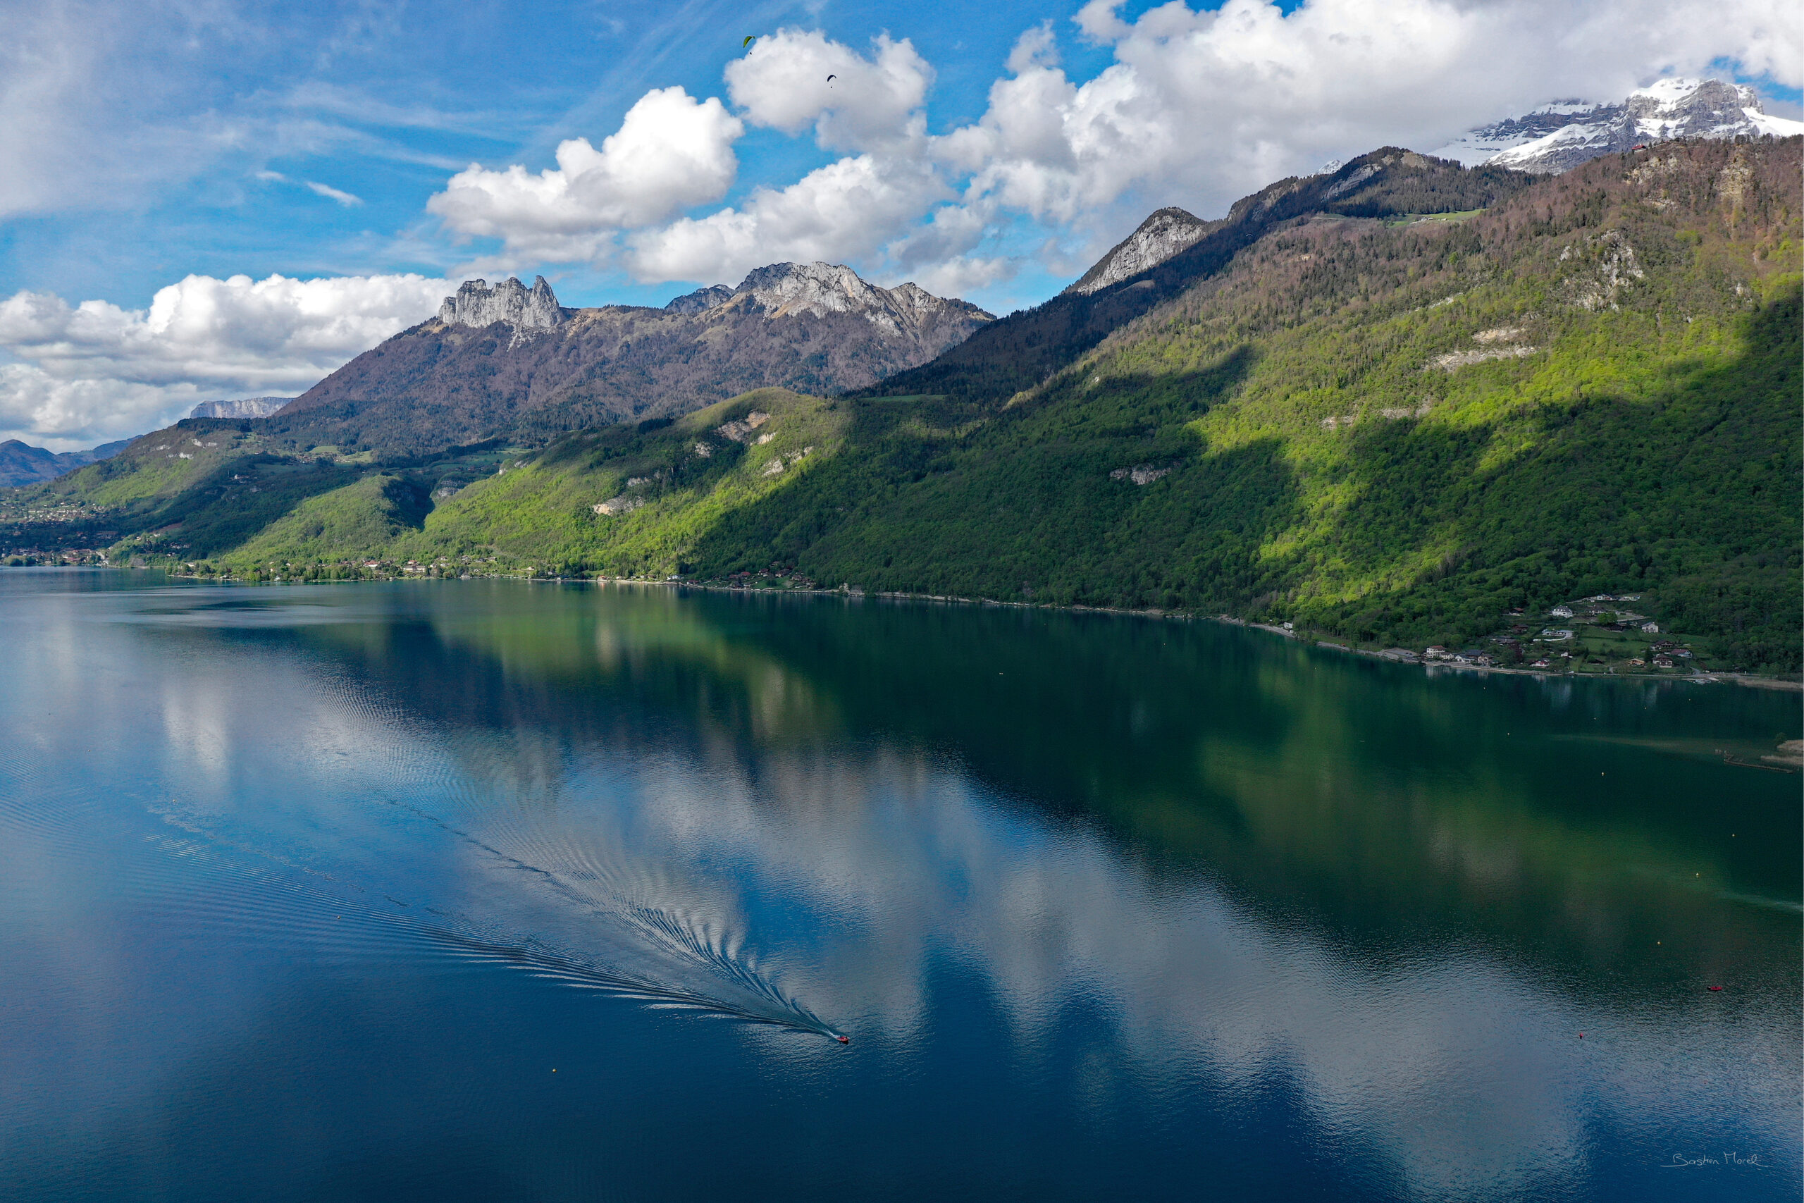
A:
<svg viewBox="0 0 1804 1203">
<path fill-rule="evenodd" d="M 1259 521 L 1252 512 L 1281 521 L 1297 503 L 1275 442 L 1203 456 L 1214 462 L 1196 473 L 1201 444 L 1185 424 L 1252 364 L 1252 350 L 1236 348 L 1201 370 L 1077 382 L 1001 413 L 956 397 L 842 399 L 851 420 L 841 455 L 722 514 L 680 570 L 787 565 L 866 590 L 1185 604 L 1180 546 L 1216 501 L 1200 496 L 1174 512 L 1174 489 L 1218 482 L 1238 509 L 1221 521 L 1236 528 Z M 1158 476 L 1126 480 L 1137 467 Z"/>
</svg>

